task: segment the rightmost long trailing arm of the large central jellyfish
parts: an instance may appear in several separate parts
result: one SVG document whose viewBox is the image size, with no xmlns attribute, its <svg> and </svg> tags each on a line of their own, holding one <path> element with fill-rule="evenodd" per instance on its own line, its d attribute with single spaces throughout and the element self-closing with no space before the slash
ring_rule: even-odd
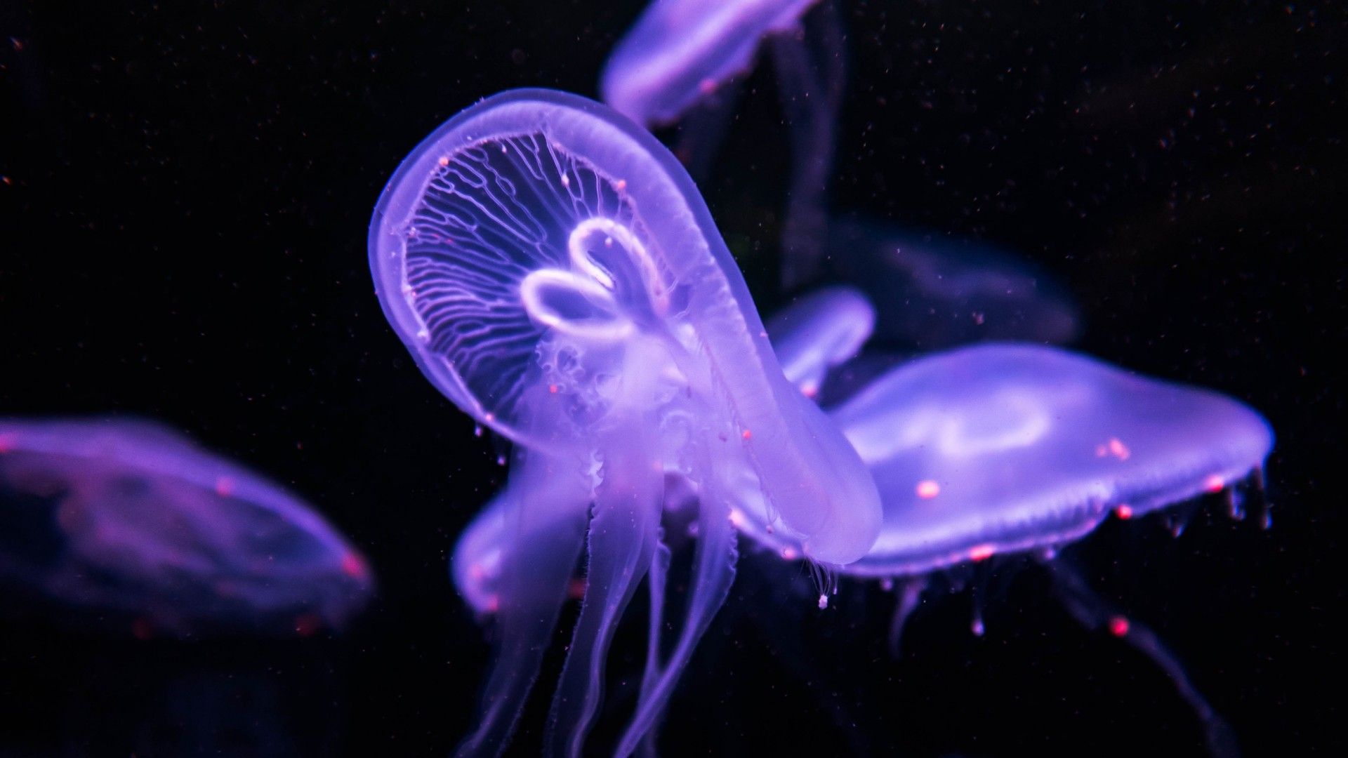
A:
<svg viewBox="0 0 1348 758">
<path fill-rule="evenodd" d="M 698 504 L 697 557 L 694 558 L 693 589 L 689 593 L 683 627 L 658 681 L 651 688 L 642 688 L 636 715 L 624 731 L 615 753 L 617 758 L 631 755 L 642 738 L 655 727 L 674 692 L 679 674 L 693 655 L 693 647 L 712 623 L 716 611 L 725 603 L 731 584 L 735 581 L 739 549 L 729 507 L 714 487 L 714 479 L 718 473 L 714 468 L 716 457 L 704 445 L 697 446 L 697 455 L 702 459 L 701 471 L 709 473 Z"/>
</svg>

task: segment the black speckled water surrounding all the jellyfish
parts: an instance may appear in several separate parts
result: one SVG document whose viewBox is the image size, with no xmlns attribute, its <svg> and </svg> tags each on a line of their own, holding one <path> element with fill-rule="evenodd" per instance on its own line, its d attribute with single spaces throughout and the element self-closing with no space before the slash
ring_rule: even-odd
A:
<svg viewBox="0 0 1348 758">
<path fill-rule="evenodd" d="M 446 550 L 504 469 L 386 324 L 367 221 L 403 155 L 476 98 L 593 96 L 639 5 L 0 4 L 0 413 L 160 418 L 310 498 L 381 580 L 344 639 L 0 620 L 0 755 L 453 747 L 488 647 Z M 1076 560 L 1171 643 L 1247 754 L 1339 754 L 1344 11 L 847 5 L 836 209 L 1020 251 L 1078 295 L 1080 349 L 1273 422 L 1271 531 L 1115 523 Z M 705 192 L 770 312 L 787 143 L 768 66 L 745 92 Z M 983 638 L 967 595 L 933 600 L 892 660 L 891 597 L 783 610 L 798 572 L 747 566 L 665 753 L 1201 750 L 1154 666 L 1078 629 L 1042 576 L 998 572 Z M 640 655 L 623 638 L 612 668 Z M 522 753 L 541 718 L 526 713 Z"/>
</svg>

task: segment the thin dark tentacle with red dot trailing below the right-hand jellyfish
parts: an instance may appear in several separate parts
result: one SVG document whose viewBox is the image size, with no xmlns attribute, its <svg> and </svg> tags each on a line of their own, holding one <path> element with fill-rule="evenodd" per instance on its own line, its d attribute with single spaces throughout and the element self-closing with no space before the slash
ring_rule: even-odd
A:
<svg viewBox="0 0 1348 758">
<path fill-rule="evenodd" d="M 1202 723 L 1204 738 L 1208 751 L 1219 758 L 1235 758 L 1240 755 L 1239 740 L 1231 724 L 1208 703 L 1208 699 L 1189 680 L 1180 658 L 1166 647 L 1166 643 L 1142 623 L 1120 614 L 1116 608 L 1091 589 L 1081 575 L 1068 565 L 1064 558 L 1045 562 L 1049 576 L 1053 580 L 1053 589 L 1057 592 L 1062 606 L 1072 614 L 1072 618 L 1081 626 L 1096 630 L 1108 629 L 1109 633 L 1142 653 L 1157 665 L 1170 681 L 1189 708 Z"/>
</svg>

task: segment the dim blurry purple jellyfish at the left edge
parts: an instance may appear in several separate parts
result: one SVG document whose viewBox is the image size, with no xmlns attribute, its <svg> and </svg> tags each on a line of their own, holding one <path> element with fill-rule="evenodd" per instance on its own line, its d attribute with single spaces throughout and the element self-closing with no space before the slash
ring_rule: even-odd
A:
<svg viewBox="0 0 1348 758">
<path fill-rule="evenodd" d="M 136 637 L 338 631 L 373 591 L 307 504 L 146 421 L 0 421 L 0 587 Z"/>
</svg>

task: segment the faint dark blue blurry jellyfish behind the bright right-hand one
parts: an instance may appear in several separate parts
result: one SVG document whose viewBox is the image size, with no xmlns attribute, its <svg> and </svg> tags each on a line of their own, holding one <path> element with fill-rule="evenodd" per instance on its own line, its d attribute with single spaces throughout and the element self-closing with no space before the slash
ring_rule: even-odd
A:
<svg viewBox="0 0 1348 758">
<path fill-rule="evenodd" d="M 1076 303 L 1049 272 L 987 244 L 833 220 L 834 272 L 876 306 L 876 336 L 926 351 L 972 341 L 1070 343 Z"/>
</svg>

